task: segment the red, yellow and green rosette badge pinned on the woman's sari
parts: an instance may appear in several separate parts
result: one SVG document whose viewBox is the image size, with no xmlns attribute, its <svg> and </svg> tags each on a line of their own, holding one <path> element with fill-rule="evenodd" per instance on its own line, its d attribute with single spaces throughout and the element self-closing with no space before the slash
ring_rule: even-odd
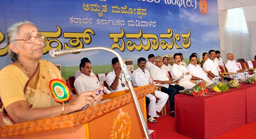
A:
<svg viewBox="0 0 256 139">
<path fill-rule="evenodd" d="M 66 103 L 70 98 L 69 88 L 60 79 L 52 79 L 49 83 L 53 98 L 58 103 Z"/>
</svg>

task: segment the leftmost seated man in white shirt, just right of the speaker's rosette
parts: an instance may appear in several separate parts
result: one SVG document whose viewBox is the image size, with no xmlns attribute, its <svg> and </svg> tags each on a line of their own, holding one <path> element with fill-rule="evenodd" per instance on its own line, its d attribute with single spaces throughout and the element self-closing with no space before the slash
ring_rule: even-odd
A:
<svg viewBox="0 0 256 139">
<path fill-rule="evenodd" d="M 91 61 L 88 58 L 82 61 L 79 67 L 81 75 L 79 75 L 74 82 L 74 86 L 78 94 L 80 94 L 83 91 L 94 90 L 97 88 L 103 88 L 103 93 L 111 93 L 111 91 L 109 91 L 107 87 L 103 87 L 103 84 L 100 83 L 95 74 L 91 72 L 92 65 Z"/>
</svg>

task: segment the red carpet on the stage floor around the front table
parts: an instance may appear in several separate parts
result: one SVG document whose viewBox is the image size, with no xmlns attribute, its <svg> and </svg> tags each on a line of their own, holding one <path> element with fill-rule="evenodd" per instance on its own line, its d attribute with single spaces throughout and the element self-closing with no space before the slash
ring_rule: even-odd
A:
<svg viewBox="0 0 256 139">
<path fill-rule="evenodd" d="M 167 107 L 167 114 L 169 114 L 169 111 L 170 108 Z M 157 123 L 147 122 L 147 125 L 148 129 L 156 131 L 157 139 L 191 139 L 175 133 L 174 117 L 166 115 L 156 118 L 156 120 Z M 256 121 L 228 131 L 214 139 L 256 139 Z"/>
</svg>

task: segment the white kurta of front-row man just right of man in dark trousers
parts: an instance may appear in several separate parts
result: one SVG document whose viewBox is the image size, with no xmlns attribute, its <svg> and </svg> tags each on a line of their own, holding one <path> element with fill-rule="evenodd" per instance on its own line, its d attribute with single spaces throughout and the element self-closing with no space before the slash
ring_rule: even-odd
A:
<svg viewBox="0 0 256 139">
<path fill-rule="evenodd" d="M 171 77 L 172 79 L 177 79 L 181 76 L 184 78 L 180 80 L 179 85 L 183 86 L 185 89 L 192 88 L 195 84 L 192 83 L 190 80 L 192 78 L 192 75 L 186 75 L 188 72 L 188 69 L 184 65 L 177 65 L 173 64 L 171 68 Z"/>
</svg>

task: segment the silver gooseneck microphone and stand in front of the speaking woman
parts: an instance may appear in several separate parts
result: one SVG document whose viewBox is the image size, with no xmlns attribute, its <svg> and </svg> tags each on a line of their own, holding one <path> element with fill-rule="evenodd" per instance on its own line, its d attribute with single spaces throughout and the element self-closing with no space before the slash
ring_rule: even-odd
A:
<svg viewBox="0 0 256 139">
<path fill-rule="evenodd" d="M 55 50 L 56 50 L 56 49 L 55 49 Z M 115 54 L 115 55 L 118 57 L 119 63 L 120 63 L 121 68 L 122 68 L 122 70 L 123 70 L 123 72 L 124 72 L 126 81 L 127 81 L 128 85 L 129 85 L 129 89 L 130 89 L 130 91 L 131 91 L 131 94 L 132 94 L 134 103 L 135 103 L 135 105 L 136 105 L 136 108 L 137 108 L 137 111 L 138 111 L 138 114 L 139 114 L 139 117 L 140 117 L 140 121 L 141 121 L 141 123 L 142 123 L 143 129 L 144 129 L 144 132 L 145 132 L 145 135 L 146 135 L 146 138 L 147 138 L 147 139 L 150 139 L 149 131 L 148 131 L 148 126 L 147 126 L 147 124 L 146 124 L 146 120 L 145 120 L 145 118 L 144 118 L 144 116 L 143 116 L 143 113 L 142 113 L 142 111 L 141 111 L 141 109 L 140 109 L 140 107 L 139 107 L 139 103 L 138 103 L 137 97 L 136 97 L 136 95 L 135 95 L 135 91 L 134 91 L 134 89 L 133 89 L 133 87 L 132 87 L 132 84 L 131 84 L 131 77 L 130 77 L 130 74 L 128 73 L 127 66 L 126 66 L 126 64 L 124 63 L 122 57 L 121 57 L 116 51 L 114 51 L 114 50 L 112 50 L 112 49 L 109 49 L 109 48 L 106 48 L 106 47 L 92 47 L 92 48 L 81 48 L 81 49 L 63 50 L 63 53 L 62 53 L 62 54 L 59 54 L 59 55 L 56 54 L 57 56 L 54 54 L 54 53 L 55 53 L 54 51 L 51 51 L 51 52 L 53 52 L 53 53 L 50 52 L 49 55 L 50 55 L 51 57 L 53 57 L 53 58 L 56 58 L 56 57 L 58 57 L 58 56 L 65 55 L 65 54 L 70 54 L 70 53 L 71 53 L 71 54 L 77 54 L 77 53 L 80 53 L 80 52 L 82 52 L 82 51 L 91 51 L 91 50 L 105 50 L 105 51 L 108 51 L 108 52 L 111 52 L 111 53 Z M 66 52 L 64 52 L 64 51 L 66 51 Z M 61 51 L 60 51 L 60 52 L 61 52 Z"/>
</svg>

